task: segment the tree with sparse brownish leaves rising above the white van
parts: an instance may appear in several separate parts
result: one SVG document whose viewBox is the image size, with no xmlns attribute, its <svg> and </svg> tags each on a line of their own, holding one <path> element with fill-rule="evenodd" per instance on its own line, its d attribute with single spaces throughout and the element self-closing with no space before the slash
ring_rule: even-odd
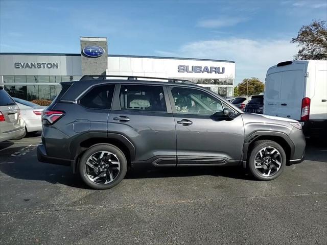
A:
<svg viewBox="0 0 327 245">
<path fill-rule="evenodd" d="M 291 43 L 301 46 L 295 60 L 327 60 L 327 22 L 313 20 L 308 26 L 302 26 Z"/>
</svg>

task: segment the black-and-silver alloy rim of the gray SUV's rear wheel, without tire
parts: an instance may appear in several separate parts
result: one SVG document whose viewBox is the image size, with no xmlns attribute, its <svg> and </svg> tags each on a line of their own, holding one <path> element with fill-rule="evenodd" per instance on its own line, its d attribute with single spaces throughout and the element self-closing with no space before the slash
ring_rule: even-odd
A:
<svg viewBox="0 0 327 245">
<path fill-rule="evenodd" d="M 97 184 L 108 184 L 114 181 L 121 169 L 118 157 L 107 151 L 92 154 L 86 161 L 86 176 Z"/>
</svg>

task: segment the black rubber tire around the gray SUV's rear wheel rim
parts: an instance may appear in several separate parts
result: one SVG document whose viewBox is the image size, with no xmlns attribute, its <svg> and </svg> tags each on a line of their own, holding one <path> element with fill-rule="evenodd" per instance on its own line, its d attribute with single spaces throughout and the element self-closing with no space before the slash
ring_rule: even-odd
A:
<svg viewBox="0 0 327 245">
<path fill-rule="evenodd" d="M 94 181 L 91 181 L 86 173 L 86 161 L 88 160 L 88 158 L 91 157 L 93 154 L 96 154 L 97 152 L 101 151 L 110 152 L 114 154 L 120 163 L 120 170 L 118 175 L 114 178 L 112 182 L 107 184 L 99 184 L 95 183 Z M 115 185 L 118 185 L 124 179 L 127 171 L 127 160 L 124 153 L 116 146 L 106 143 L 95 144 L 84 152 L 81 160 L 79 161 L 78 170 L 82 180 L 89 187 L 93 189 L 110 189 Z"/>
</svg>

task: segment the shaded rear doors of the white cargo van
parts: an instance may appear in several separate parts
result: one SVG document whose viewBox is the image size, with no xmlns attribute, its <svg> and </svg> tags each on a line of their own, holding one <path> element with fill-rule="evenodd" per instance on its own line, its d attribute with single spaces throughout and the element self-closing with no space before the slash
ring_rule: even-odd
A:
<svg viewBox="0 0 327 245">
<path fill-rule="evenodd" d="M 307 63 L 271 67 L 267 72 L 264 114 L 300 120 Z"/>
</svg>

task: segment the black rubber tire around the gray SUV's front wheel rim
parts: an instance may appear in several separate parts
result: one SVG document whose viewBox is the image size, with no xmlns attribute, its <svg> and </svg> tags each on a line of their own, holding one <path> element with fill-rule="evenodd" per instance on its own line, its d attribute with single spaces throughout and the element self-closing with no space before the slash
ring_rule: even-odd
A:
<svg viewBox="0 0 327 245">
<path fill-rule="evenodd" d="M 275 169 L 276 173 L 274 173 L 271 176 L 263 176 L 262 174 L 260 174 L 260 171 L 265 171 L 265 168 L 262 168 L 260 170 L 257 170 L 255 168 L 255 157 L 257 156 L 257 154 L 260 154 L 259 151 L 268 147 L 268 149 L 270 148 L 274 148 L 279 152 L 279 155 L 277 155 L 278 160 L 280 159 L 281 165 L 279 167 L 279 169 Z M 272 152 L 272 151 L 271 151 Z M 279 158 L 279 156 L 281 158 Z M 275 166 L 278 166 L 277 164 L 273 164 Z M 252 176 L 257 179 L 257 180 L 273 180 L 276 179 L 278 176 L 280 176 L 285 168 L 286 165 L 286 154 L 284 149 L 282 148 L 281 145 L 279 145 L 278 143 L 276 143 L 275 141 L 272 140 L 258 140 L 256 142 L 253 143 L 253 147 L 251 152 L 249 153 L 249 157 L 248 157 L 248 161 L 247 161 L 247 166 L 248 169 L 250 171 L 250 173 L 252 174 Z M 265 166 L 267 168 L 267 171 L 269 171 L 269 166 Z"/>
</svg>

